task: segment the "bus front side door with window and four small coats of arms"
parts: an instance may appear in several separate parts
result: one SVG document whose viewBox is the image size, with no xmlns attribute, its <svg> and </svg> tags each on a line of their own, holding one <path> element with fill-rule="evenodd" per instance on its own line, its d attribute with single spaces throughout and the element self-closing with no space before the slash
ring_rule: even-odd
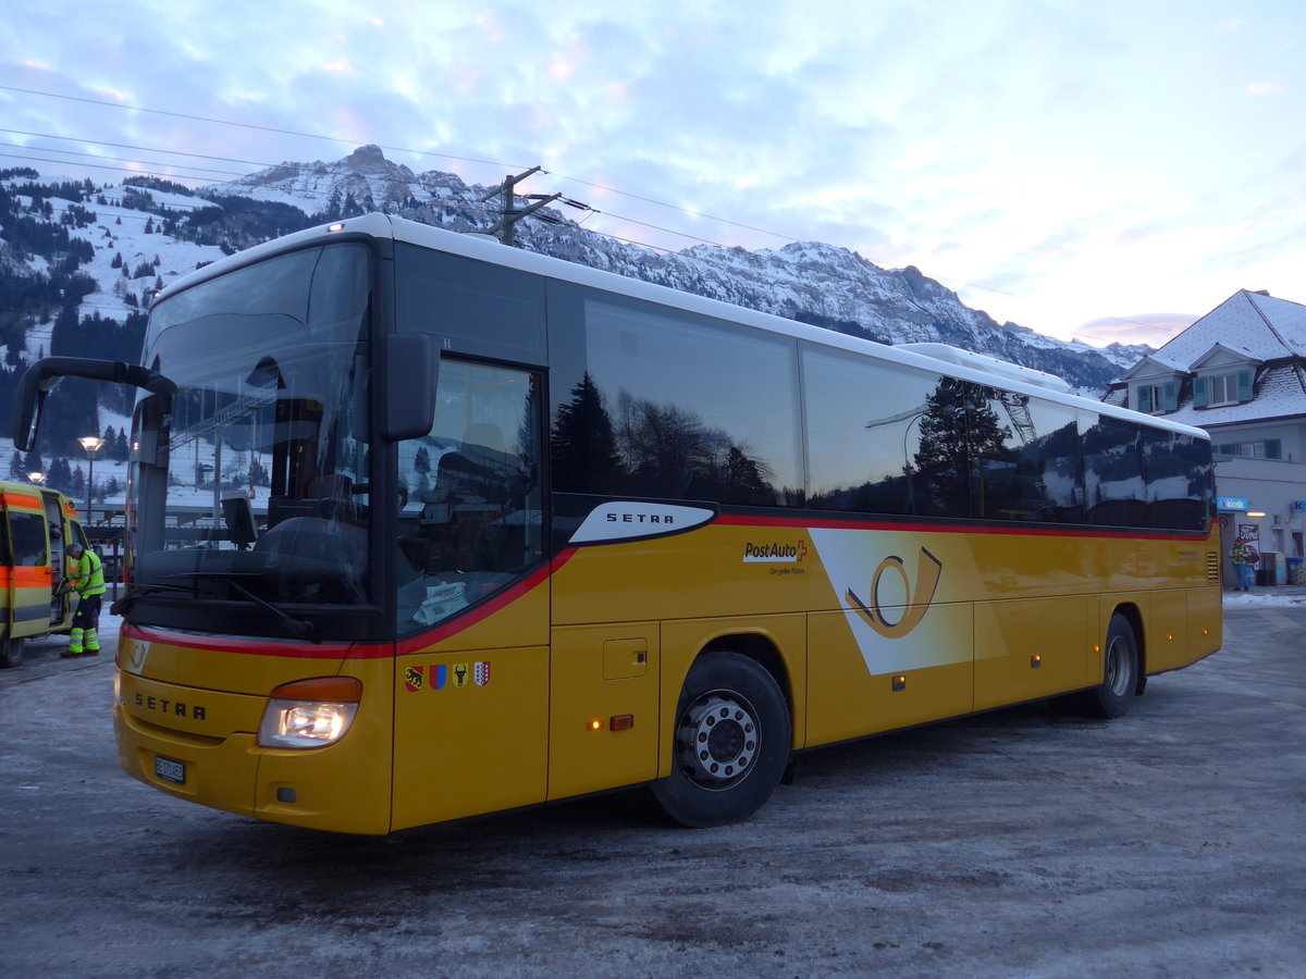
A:
<svg viewBox="0 0 1306 979">
<path fill-rule="evenodd" d="M 443 359 L 431 431 L 398 445 L 393 829 L 545 800 L 541 385 Z"/>
</svg>

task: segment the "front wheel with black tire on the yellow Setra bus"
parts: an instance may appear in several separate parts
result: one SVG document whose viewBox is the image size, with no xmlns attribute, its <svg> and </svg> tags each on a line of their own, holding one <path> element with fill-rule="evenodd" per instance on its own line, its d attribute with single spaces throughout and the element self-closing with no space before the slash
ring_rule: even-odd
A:
<svg viewBox="0 0 1306 979">
<path fill-rule="evenodd" d="M 653 783 L 653 796 L 682 826 L 746 820 L 780 785 L 791 740 L 774 677 L 738 653 L 705 653 L 684 679 L 671 774 Z"/>
</svg>

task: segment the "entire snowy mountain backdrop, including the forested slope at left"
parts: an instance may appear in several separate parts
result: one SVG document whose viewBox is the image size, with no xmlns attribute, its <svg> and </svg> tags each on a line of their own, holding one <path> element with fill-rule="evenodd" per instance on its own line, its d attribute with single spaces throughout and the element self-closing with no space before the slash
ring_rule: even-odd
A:
<svg viewBox="0 0 1306 979">
<path fill-rule="evenodd" d="M 13 385 L 26 363 L 52 352 L 133 359 L 153 292 L 196 266 L 368 210 L 454 231 L 483 231 L 498 221 L 502 206 L 491 191 L 452 174 L 415 174 L 376 146 L 334 162 L 281 163 L 202 189 L 153 178 L 60 183 L 30 168 L 3 170 L 0 436 L 8 433 Z M 755 252 L 695 245 L 662 253 L 588 231 L 546 208 L 517 226 L 517 244 L 885 343 L 952 343 L 1047 371 L 1093 396 L 1149 352 L 1149 347 L 1063 343 L 1012 322 L 998 324 L 916 268 L 882 269 L 855 252 L 821 243 Z M 69 432 L 95 426 L 98 433 L 125 423 L 125 403 L 103 389 L 99 398 L 98 415 L 69 422 Z M 47 420 L 65 410 L 55 401 L 50 407 Z M 67 454 L 76 458 L 73 450 Z"/>
</svg>

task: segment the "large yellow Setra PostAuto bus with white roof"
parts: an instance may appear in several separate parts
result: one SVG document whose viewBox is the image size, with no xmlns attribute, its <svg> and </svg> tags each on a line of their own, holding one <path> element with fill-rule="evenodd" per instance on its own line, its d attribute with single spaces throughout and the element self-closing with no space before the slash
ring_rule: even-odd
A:
<svg viewBox="0 0 1306 979">
<path fill-rule="evenodd" d="M 795 753 L 1221 642 L 1198 429 L 380 214 L 166 288 L 115 724 L 179 799 L 384 834 L 650 786 L 748 817 Z"/>
</svg>

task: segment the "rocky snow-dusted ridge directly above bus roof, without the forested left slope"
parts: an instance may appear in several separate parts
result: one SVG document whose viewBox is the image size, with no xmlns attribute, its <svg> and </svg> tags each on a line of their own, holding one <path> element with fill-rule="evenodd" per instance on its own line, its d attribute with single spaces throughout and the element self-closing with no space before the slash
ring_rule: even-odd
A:
<svg viewBox="0 0 1306 979">
<path fill-rule="evenodd" d="M 499 217 L 498 198 L 482 200 L 487 193 L 452 174 L 415 174 L 385 159 L 379 148 L 363 146 L 330 163 L 282 163 L 212 187 L 204 196 L 253 198 L 329 217 L 387 210 L 474 231 Z M 882 269 L 846 248 L 794 243 L 748 252 L 695 245 L 667 255 L 586 231 L 558 210 L 543 214 L 551 223 L 518 225 L 521 247 L 885 343 L 952 343 L 1055 373 L 1092 394 L 1149 350 L 1064 343 L 1013 322 L 999 324 L 913 266 Z"/>
</svg>

